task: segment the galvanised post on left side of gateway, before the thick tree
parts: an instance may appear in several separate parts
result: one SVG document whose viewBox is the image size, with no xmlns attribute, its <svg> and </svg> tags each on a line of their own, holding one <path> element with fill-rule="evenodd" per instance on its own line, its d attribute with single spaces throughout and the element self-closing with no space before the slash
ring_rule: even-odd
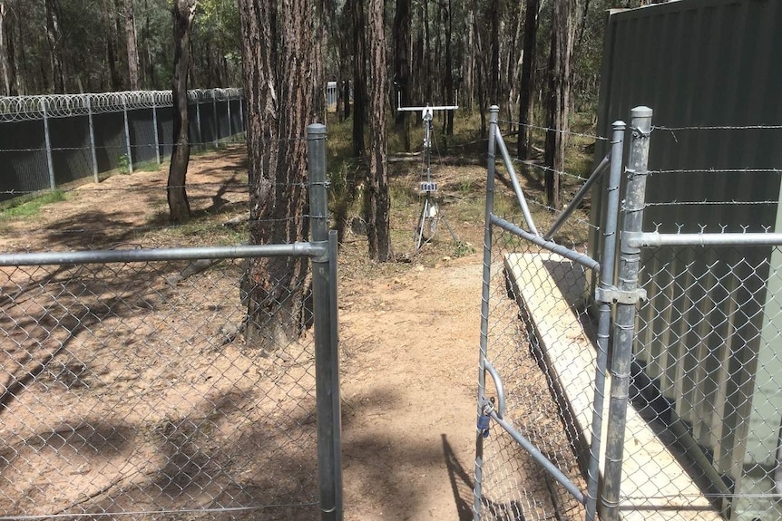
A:
<svg viewBox="0 0 782 521">
<path fill-rule="evenodd" d="M 318 409 L 320 518 L 342 521 L 339 353 L 337 343 L 337 236 L 328 232 L 326 126 L 307 127 L 309 220 L 312 241 L 328 244 L 328 254 L 312 259 L 315 325 L 315 386 Z"/>
</svg>

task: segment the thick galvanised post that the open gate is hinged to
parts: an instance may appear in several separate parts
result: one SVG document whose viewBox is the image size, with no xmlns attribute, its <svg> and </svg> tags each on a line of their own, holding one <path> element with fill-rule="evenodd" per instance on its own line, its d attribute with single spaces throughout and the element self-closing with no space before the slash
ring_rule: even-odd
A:
<svg viewBox="0 0 782 521">
<path fill-rule="evenodd" d="M 630 362 L 635 339 L 636 306 L 643 298 L 638 287 L 640 248 L 630 246 L 628 237 L 639 233 L 643 224 L 646 205 L 646 177 L 649 165 L 649 141 L 651 134 L 649 107 L 636 107 L 630 111 L 630 156 L 627 166 L 627 187 L 624 202 L 624 221 L 619 258 L 619 283 L 613 291 L 616 302 L 614 321 L 613 356 L 611 358 L 611 399 L 609 401 L 608 432 L 605 454 L 605 482 L 601 497 L 602 519 L 619 518 L 621 494 L 621 470 L 624 456 L 624 437 L 627 408 L 630 401 Z"/>
</svg>

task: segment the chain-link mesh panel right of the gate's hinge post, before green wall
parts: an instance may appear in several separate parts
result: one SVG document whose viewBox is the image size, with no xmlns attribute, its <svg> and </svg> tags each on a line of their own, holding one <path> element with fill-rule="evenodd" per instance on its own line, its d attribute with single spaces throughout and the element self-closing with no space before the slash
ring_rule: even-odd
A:
<svg viewBox="0 0 782 521">
<path fill-rule="evenodd" d="M 647 252 L 641 271 L 649 301 L 634 349 L 636 407 L 678 442 L 681 464 L 734 519 L 782 517 L 780 267 L 778 246 L 667 247 Z M 636 466 L 623 485 L 653 478 Z"/>
</svg>

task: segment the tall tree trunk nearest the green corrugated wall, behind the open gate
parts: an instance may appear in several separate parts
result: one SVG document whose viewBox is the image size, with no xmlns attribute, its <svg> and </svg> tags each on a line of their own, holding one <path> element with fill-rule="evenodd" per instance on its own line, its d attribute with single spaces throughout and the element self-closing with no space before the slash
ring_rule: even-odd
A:
<svg viewBox="0 0 782 521">
<path fill-rule="evenodd" d="M 555 0 L 552 11 L 552 48 L 549 57 L 549 100 L 546 126 L 546 197 L 554 209 L 562 208 L 562 181 L 570 128 L 572 0 Z"/>
</svg>

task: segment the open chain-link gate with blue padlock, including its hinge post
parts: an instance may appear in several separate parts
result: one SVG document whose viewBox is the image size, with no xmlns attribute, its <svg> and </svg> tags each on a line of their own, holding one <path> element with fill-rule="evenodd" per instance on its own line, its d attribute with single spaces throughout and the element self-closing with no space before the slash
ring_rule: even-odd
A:
<svg viewBox="0 0 782 521">
<path fill-rule="evenodd" d="M 642 296 L 615 273 L 618 262 L 625 275 L 632 275 L 633 262 L 636 277 L 638 268 L 628 252 L 617 252 L 626 125 L 613 124 L 609 155 L 543 232 L 498 129 L 498 111 L 491 109 L 486 180 L 474 520 L 593 520 L 599 484 L 601 508 L 615 512 L 621 477 L 623 440 L 610 436 L 605 442 L 603 419 L 620 421 L 630 368 L 615 359 L 607 376 L 611 321 L 631 336 L 630 313 L 634 317 Z M 633 110 L 629 173 L 646 169 L 650 121 L 649 109 Z M 495 167 L 498 152 L 507 178 Z M 606 171 L 607 182 L 601 181 Z M 503 197 L 497 179 L 513 188 L 513 197 Z M 607 204 L 593 225 L 579 217 L 579 207 L 601 185 Z M 623 213 L 627 229 L 640 227 L 632 201 L 625 201 Z M 573 240 L 579 236 L 574 226 L 604 237 L 601 263 Z M 594 326 L 587 315 L 591 305 Z"/>
</svg>

